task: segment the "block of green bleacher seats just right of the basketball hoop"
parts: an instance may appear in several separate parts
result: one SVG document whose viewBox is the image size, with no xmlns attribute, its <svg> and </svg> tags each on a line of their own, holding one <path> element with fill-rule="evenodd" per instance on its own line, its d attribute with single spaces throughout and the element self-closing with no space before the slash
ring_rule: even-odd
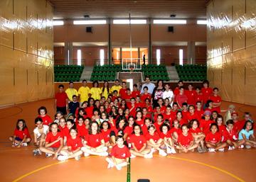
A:
<svg viewBox="0 0 256 182">
<path fill-rule="evenodd" d="M 151 81 L 157 81 L 158 79 L 163 79 L 164 81 L 169 81 L 169 76 L 164 65 L 156 64 L 146 64 L 142 65 L 142 72 L 145 76 L 150 76 Z"/>
</svg>

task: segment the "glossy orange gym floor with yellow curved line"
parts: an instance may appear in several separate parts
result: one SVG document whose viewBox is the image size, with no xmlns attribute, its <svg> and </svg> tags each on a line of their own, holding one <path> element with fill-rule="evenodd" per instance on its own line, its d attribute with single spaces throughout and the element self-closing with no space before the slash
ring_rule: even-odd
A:
<svg viewBox="0 0 256 182">
<path fill-rule="evenodd" d="M 222 109 L 230 103 L 223 102 Z M 33 132 L 33 120 L 37 115 L 37 108 L 46 106 L 48 114 L 54 115 L 53 99 L 23 103 L 18 106 L 0 110 L 0 181 L 126 181 L 127 169 L 121 171 L 107 169 L 105 157 L 82 157 L 80 161 L 73 159 L 59 162 L 46 159 L 44 155 L 33 157 L 33 146 L 19 149 L 11 148 L 8 137 L 18 118 L 23 118 Z M 236 104 L 238 113 L 249 111 L 253 118 L 256 107 Z M 168 157 L 154 159 L 131 159 L 131 181 L 138 178 L 149 178 L 151 182 L 175 181 L 247 181 L 255 182 L 256 149 L 239 149 L 232 152 L 218 152 L 216 154 L 189 153 L 175 154 Z"/>
</svg>

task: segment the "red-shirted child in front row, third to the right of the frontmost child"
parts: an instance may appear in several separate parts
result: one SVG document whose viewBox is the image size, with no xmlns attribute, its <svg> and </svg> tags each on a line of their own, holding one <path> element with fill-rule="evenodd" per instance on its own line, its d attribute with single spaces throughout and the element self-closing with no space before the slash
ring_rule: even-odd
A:
<svg viewBox="0 0 256 182">
<path fill-rule="evenodd" d="M 166 147 L 167 154 L 176 154 L 176 150 L 174 148 L 174 142 L 171 140 L 171 133 L 169 132 L 170 126 L 164 123 L 160 127 L 160 138 L 163 140 L 164 144 L 162 147 Z"/>
</svg>

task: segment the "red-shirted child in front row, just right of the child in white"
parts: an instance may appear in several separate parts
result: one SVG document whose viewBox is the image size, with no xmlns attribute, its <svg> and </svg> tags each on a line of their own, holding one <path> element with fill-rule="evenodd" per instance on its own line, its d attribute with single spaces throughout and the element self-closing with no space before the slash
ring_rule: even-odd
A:
<svg viewBox="0 0 256 182">
<path fill-rule="evenodd" d="M 46 157 L 54 155 L 53 159 L 57 159 L 60 150 L 63 148 L 63 135 L 58 132 L 58 124 L 50 124 L 50 132 L 46 135 L 46 144 L 40 147 L 41 152 L 46 153 Z"/>
</svg>

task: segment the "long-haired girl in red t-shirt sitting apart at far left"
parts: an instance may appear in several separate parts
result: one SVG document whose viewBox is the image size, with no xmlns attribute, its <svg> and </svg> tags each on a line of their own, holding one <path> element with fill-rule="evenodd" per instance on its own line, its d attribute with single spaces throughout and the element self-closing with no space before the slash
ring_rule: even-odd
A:
<svg viewBox="0 0 256 182">
<path fill-rule="evenodd" d="M 28 146 L 28 142 L 31 142 L 31 136 L 29 135 L 25 120 L 19 119 L 17 121 L 14 136 L 9 137 L 9 140 L 12 142 L 12 147 Z"/>
</svg>

